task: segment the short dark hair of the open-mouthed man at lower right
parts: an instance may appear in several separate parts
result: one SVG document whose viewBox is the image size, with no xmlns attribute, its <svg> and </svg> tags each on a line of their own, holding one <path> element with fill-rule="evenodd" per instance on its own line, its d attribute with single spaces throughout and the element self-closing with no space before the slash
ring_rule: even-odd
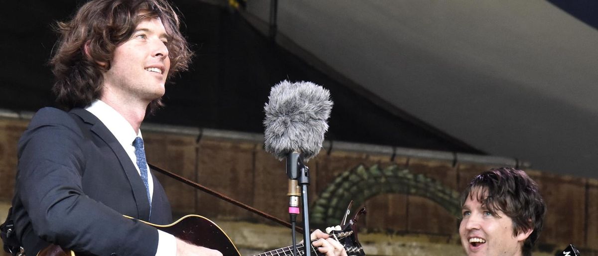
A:
<svg viewBox="0 0 598 256">
<path fill-rule="evenodd" d="M 522 248 L 523 255 L 531 255 L 542 231 L 546 205 L 538 184 L 523 170 L 503 167 L 481 173 L 463 191 L 461 205 L 468 197 L 472 200 L 475 197 L 495 216 L 500 211 L 511 218 L 514 236 L 533 228 Z"/>
</svg>

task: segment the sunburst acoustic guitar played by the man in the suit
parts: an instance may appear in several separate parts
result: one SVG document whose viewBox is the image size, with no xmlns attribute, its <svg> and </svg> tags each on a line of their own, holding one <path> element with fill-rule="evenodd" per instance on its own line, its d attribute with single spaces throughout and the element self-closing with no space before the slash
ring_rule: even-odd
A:
<svg viewBox="0 0 598 256">
<path fill-rule="evenodd" d="M 364 211 L 365 208 L 362 209 L 362 211 L 360 212 Z M 362 249 L 361 244 L 357 239 L 357 233 L 355 232 L 357 224 L 356 218 L 357 214 L 355 218 L 353 218 L 353 220 L 350 220 L 349 223 L 346 223 L 340 231 L 332 231 L 330 236 L 333 239 L 337 239 L 338 242 L 340 242 L 341 245 L 344 246 L 345 250 L 347 251 L 347 255 L 365 256 L 365 252 Z M 208 220 L 208 218 L 202 217 L 200 215 L 187 215 L 169 225 L 156 225 L 151 223 L 146 224 L 152 225 L 153 227 L 158 228 L 159 230 L 170 233 L 178 239 L 185 240 L 193 245 L 218 250 L 224 256 L 241 256 L 239 250 L 237 250 L 236 246 L 234 246 L 234 243 L 230 240 L 230 237 L 228 237 L 228 235 L 224 233 L 224 231 L 222 231 L 222 229 L 218 227 L 218 225 Z M 324 255 L 321 252 L 319 252 L 317 248 L 314 248 L 311 245 L 311 243 L 310 247 L 312 255 Z M 299 255 L 305 254 L 303 248 L 303 243 L 297 244 L 297 251 Z M 292 246 L 287 246 L 279 249 L 274 249 L 272 251 L 263 252 L 261 254 L 256 254 L 254 256 L 293 255 L 292 250 Z M 38 256 L 83 255 L 88 256 L 87 254 L 80 254 L 68 249 L 63 249 L 57 245 L 50 245 L 42 249 L 42 251 L 38 253 Z"/>
</svg>

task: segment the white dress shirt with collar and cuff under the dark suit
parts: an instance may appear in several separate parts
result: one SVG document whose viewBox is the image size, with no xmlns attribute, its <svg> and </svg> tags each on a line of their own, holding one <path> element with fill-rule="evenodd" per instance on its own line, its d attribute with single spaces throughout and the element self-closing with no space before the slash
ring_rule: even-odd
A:
<svg viewBox="0 0 598 256">
<path fill-rule="evenodd" d="M 135 138 L 141 136 L 141 130 L 136 134 L 133 126 L 114 108 L 103 102 L 102 100 L 94 100 L 91 105 L 85 108 L 91 114 L 95 115 L 97 119 L 108 128 L 108 130 L 114 135 L 118 143 L 123 146 L 124 151 L 133 162 L 135 169 L 141 176 L 141 170 L 137 166 L 137 157 L 135 156 L 135 146 L 133 141 Z M 149 166 L 146 166 L 149 170 Z M 149 185 L 149 199 L 151 200 L 154 195 L 154 179 L 151 173 L 148 173 L 148 185 Z M 151 203 L 151 202 L 150 202 Z M 155 252 L 156 256 L 172 256 L 176 255 L 176 239 L 172 234 L 158 230 L 158 249 Z"/>
</svg>

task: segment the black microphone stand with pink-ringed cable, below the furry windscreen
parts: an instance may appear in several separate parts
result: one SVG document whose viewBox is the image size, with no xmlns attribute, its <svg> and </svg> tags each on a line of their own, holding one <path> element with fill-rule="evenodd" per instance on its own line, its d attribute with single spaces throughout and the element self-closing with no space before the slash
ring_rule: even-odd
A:
<svg viewBox="0 0 598 256">
<path fill-rule="evenodd" d="M 289 179 L 297 180 L 297 183 L 301 186 L 301 209 L 303 212 L 303 243 L 305 249 L 305 256 L 311 256 L 311 239 L 309 234 L 309 201 L 307 200 L 307 186 L 309 185 L 309 168 L 303 164 L 303 157 L 301 154 L 293 151 L 286 156 L 286 175 L 289 176 Z M 291 182 L 289 182 L 291 184 Z M 289 188 L 290 190 L 290 188 Z M 289 193 L 290 194 L 290 193 Z M 292 197 L 291 197 L 292 198 Z M 292 201 L 292 199 L 291 199 Z M 290 207 L 289 207 L 289 214 L 290 214 Z M 296 217 L 296 215 L 295 215 Z M 293 221 L 294 217 L 291 215 L 291 221 Z M 293 236 L 293 248 L 295 255 L 297 255 L 297 248 L 295 245 L 295 230 L 292 231 Z"/>
</svg>

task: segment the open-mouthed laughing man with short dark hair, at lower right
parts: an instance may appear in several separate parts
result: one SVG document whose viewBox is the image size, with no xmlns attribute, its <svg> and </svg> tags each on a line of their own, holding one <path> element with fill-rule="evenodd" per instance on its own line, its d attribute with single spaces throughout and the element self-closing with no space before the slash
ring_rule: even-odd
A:
<svg viewBox="0 0 598 256">
<path fill-rule="evenodd" d="M 523 170 L 481 173 L 463 192 L 461 205 L 459 235 L 467 255 L 531 255 L 546 206 Z"/>
</svg>

